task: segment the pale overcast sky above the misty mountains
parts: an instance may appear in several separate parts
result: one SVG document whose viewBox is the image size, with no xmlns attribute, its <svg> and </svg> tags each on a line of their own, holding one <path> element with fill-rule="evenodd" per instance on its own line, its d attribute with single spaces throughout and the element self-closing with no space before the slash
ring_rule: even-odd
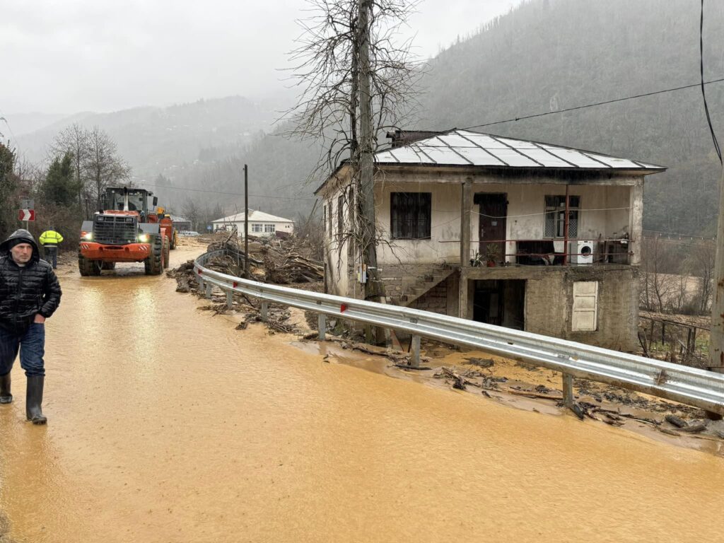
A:
<svg viewBox="0 0 724 543">
<path fill-rule="evenodd" d="M 422 0 L 420 56 L 522 0 Z M 284 90 L 304 0 L 0 0 L 0 114 L 168 106 Z"/>
</svg>

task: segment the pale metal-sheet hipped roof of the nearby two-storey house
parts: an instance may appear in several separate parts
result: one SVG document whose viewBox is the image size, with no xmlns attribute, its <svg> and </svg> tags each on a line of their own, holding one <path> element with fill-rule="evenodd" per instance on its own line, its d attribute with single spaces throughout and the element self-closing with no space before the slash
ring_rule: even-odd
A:
<svg viewBox="0 0 724 543">
<path fill-rule="evenodd" d="M 620 159 L 548 143 L 502 138 L 470 130 L 450 130 L 405 146 L 378 151 L 377 164 L 664 170 L 656 164 Z"/>
</svg>

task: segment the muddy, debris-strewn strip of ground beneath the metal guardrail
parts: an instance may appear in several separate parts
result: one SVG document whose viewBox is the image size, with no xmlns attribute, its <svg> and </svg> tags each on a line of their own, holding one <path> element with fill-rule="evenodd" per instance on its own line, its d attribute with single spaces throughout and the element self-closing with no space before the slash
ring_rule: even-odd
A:
<svg viewBox="0 0 724 543">
<path fill-rule="evenodd" d="M 224 266 L 223 262 L 218 263 Z M 185 282 L 182 269 L 169 272 L 180 285 Z M 321 290 L 319 282 L 304 282 L 294 287 Z M 183 288 L 182 291 L 188 291 Z M 248 298 L 235 298 L 232 311 L 227 310 L 222 292 L 214 292 L 207 310 L 240 316 L 240 329 L 261 321 L 258 304 Z M 704 411 L 657 397 L 631 392 L 620 387 L 574 379 L 575 405 L 572 412 L 563 406 L 562 376 L 557 371 L 532 366 L 500 356 L 455 348 L 439 342 L 422 341 L 421 369 L 409 368 L 409 345 L 396 341 L 395 348 L 365 345 L 361 334 L 350 333 L 334 320 L 328 324 L 333 333 L 327 342 L 316 342 L 316 314 L 285 306 L 269 308 L 270 333 L 290 334 L 290 341 L 308 352 L 324 352 L 330 363 L 347 363 L 403 379 L 414 379 L 434 387 L 479 395 L 481 400 L 494 401 L 513 408 L 548 415 L 577 416 L 581 423 L 606 424 L 623 431 L 645 434 L 652 439 L 673 445 L 724 455 L 724 424 L 711 421 Z M 335 325 L 337 325 L 335 327 Z M 337 332 L 337 335 L 334 334 Z"/>
</svg>

